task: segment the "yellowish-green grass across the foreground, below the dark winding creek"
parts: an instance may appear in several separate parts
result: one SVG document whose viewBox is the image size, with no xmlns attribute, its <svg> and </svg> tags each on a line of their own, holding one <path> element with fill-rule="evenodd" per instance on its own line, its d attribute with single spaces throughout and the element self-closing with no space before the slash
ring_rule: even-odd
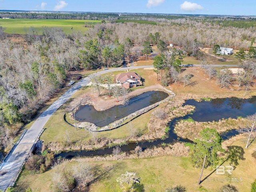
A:
<svg viewBox="0 0 256 192">
<path fill-rule="evenodd" d="M 116 178 L 129 171 L 136 172 L 138 177 L 141 177 L 140 189 L 143 190 L 138 191 L 158 192 L 164 191 L 170 186 L 182 185 L 186 187 L 188 192 L 216 192 L 224 184 L 232 184 L 236 186 L 239 192 L 248 192 L 250 191 L 250 184 L 255 179 L 256 167 L 254 165 L 256 159 L 251 154 L 254 152 L 253 149 L 255 149 L 256 144 L 254 143 L 248 149 L 244 149 L 244 142 L 238 140 L 232 146 L 243 148 L 242 153 L 239 154 L 238 165 L 233 170 L 232 175 L 217 175 L 214 169 L 207 168 L 204 170 L 202 179 L 206 178 L 206 176 L 208 178 L 200 184 L 201 187 L 197 185 L 200 169 L 194 168 L 188 157 L 161 156 L 132 160 L 91 162 L 89 163 L 90 166 L 98 174 L 99 172 L 106 172 L 107 168 L 111 169 L 90 184 L 89 190 L 85 191 L 121 192 L 122 190 L 116 182 Z M 237 154 L 235 156 L 238 158 Z M 223 166 L 230 165 L 230 160 L 225 157 L 220 161 L 220 164 L 223 162 Z M 66 168 L 76 163 L 76 161 L 71 162 L 65 163 Z M 16 189 L 23 189 L 22 191 L 24 191 L 30 186 L 35 191 L 48 192 L 50 191 L 49 186 L 53 172 L 54 169 L 43 174 L 31 174 L 25 170 L 16 184 Z"/>
</svg>

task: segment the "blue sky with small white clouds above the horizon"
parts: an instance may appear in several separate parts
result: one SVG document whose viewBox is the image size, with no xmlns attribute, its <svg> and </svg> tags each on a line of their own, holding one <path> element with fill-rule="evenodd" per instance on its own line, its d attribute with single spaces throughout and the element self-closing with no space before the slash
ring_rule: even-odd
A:
<svg viewBox="0 0 256 192">
<path fill-rule="evenodd" d="M 0 10 L 256 15 L 254 0 L 0 0 Z"/>
</svg>

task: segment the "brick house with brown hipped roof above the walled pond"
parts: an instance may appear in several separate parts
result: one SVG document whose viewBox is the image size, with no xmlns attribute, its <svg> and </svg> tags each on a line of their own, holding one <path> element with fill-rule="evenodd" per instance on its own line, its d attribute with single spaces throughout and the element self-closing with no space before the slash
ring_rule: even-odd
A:
<svg viewBox="0 0 256 192">
<path fill-rule="evenodd" d="M 116 83 L 120 83 L 121 87 L 126 89 L 142 85 L 141 76 L 135 72 L 120 73 L 116 75 Z"/>
</svg>

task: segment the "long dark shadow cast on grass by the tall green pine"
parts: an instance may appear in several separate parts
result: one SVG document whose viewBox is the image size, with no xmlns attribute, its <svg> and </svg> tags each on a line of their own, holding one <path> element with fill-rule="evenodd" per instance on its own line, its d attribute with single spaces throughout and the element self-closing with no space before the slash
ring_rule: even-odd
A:
<svg viewBox="0 0 256 192">
<path fill-rule="evenodd" d="M 240 146 L 228 146 L 228 150 L 226 151 L 228 157 L 224 160 L 219 166 L 224 164 L 224 162 L 228 161 L 230 166 L 233 166 L 233 170 L 236 169 L 236 166 L 239 165 L 238 160 L 245 160 L 244 158 L 244 149 Z M 206 176 L 200 183 L 204 182 L 209 176 L 211 176 L 216 169 L 214 169 L 208 176 Z"/>
</svg>

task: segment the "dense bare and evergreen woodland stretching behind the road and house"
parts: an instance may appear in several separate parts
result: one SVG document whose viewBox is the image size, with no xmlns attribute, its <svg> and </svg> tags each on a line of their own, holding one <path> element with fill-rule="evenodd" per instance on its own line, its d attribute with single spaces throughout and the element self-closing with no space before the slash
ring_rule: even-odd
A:
<svg viewBox="0 0 256 192">
<path fill-rule="evenodd" d="M 49 14 L 49 18 L 51 15 L 59 17 L 59 14 Z M 14 16 L 17 18 L 21 14 Z M 106 17 L 107 14 L 100 19 Z M 142 55 L 146 59 L 151 52 L 150 44 L 158 46 L 161 52 L 154 59 L 157 72 L 164 68 L 160 63 L 172 67 L 169 68 L 172 81 L 168 80 L 164 85 L 176 82 L 175 77 L 185 55 L 203 60 L 199 47 L 214 48 L 218 44 L 241 50 L 251 49 L 248 58 L 252 65 L 255 64 L 256 50 L 252 44 L 256 31 L 253 26 L 239 27 L 240 20 L 231 19 L 235 24 L 224 25 L 208 18 L 147 18 L 156 24 L 128 20 L 123 23 L 102 22 L 85 34 L 76 32 L 69 35 L 60 28 L 47 27 L 43 27 L 42 35 L 37 35 L 36 29 L 30 28 L 23 46 L 5 38 L 0 28 L 0 146 L 12 144 L 22 125 L 29 122 L 44 102 L 64 86 L 68 71 L 120 66 L 124 58 L 129 62 Z M 168 52 L 166 45 L 170 43 L 182 47 L 184 51 Z M 143 50 L 136 50 L 135 46 L 143 46 Z M 245 58 L 241 58 L 241 62 L 243 60 Z M 169 71 L 164 75 L 168 74 Z"/>
</svg>

